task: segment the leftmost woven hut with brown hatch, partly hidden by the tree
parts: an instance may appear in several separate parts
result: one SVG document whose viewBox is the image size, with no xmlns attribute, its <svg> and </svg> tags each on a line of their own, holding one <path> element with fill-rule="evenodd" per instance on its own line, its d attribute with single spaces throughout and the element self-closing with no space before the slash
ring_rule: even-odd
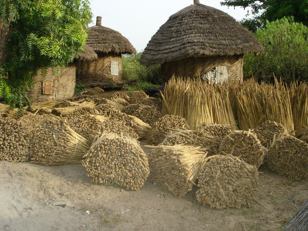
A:
<svg viewBox="0 0 308 231">
<path fill-rule="evenodd" d="M 58 75 L 55 75 L 53 68 L 39 70 L 33 77 L 33 86 L 30 87 L 27 95 L 32 101 L 46 99 L 67 99 L 74 95 L 76 79 L 77 60 L 90 62 L 97 59 L 94 50 L 85 45 L 84 50 L 79 53 L 79 57 L 66 67 L 59 67 Z"/>
</svg>

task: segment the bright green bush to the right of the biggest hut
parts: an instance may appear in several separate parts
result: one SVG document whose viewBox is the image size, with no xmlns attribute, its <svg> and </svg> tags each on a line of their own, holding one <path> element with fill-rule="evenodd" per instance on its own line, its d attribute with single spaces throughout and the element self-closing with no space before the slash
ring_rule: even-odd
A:
<svg viewBox="0 0 308 231">
<path fill-rule="evenodd" d="M 244 56 L 244 76 L 253 75 L 266 82 L 274 76 L 286 82 L 308 79 L 308 28 L 302 23 L 282 18 L 267 22 L 256 37 L 265 52 Z"/>
</svg>

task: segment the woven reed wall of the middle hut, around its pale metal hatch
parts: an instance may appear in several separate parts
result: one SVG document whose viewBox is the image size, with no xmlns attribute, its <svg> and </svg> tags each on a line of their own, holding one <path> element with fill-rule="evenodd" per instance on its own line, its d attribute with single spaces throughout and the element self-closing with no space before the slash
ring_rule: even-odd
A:
<svg viewBox="0 0 308 231">
<path fill-rule="evenodd" d="M 119 75 L 111 75 L 111 61 L 118 61 Z M 116 84 L 122 81 L 122 56 L 117 54 L 98 55 L 98 59 L 79 61 L 76 67 L 77 81 L 85 86 Z"/>
</svg>

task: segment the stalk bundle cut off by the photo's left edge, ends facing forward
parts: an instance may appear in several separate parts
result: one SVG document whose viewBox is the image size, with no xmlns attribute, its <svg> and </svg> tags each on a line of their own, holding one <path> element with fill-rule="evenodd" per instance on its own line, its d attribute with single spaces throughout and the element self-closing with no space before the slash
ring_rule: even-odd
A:
<svg viewBox="0 0 308 231">
<path fill-rule="evenodd" d="M 22 162 L 29 159 L 29 129 L 11 118 L 0 120 L 0 160 Z"/>
</svg>

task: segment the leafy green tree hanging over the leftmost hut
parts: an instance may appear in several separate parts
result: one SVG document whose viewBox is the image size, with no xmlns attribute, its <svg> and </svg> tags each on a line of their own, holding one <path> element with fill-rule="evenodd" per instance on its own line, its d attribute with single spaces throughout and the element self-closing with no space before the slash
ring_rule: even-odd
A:
<svg viewBox="0 0 308 231">
<path fill-rule="evenodd" d="M 88 0 L 0 0 L 0 95 L 21 107 L 39 69 L 65 66 L 83 50 Z M 57 71 L 56 71 L 57 73 Z"/>
</svg>

